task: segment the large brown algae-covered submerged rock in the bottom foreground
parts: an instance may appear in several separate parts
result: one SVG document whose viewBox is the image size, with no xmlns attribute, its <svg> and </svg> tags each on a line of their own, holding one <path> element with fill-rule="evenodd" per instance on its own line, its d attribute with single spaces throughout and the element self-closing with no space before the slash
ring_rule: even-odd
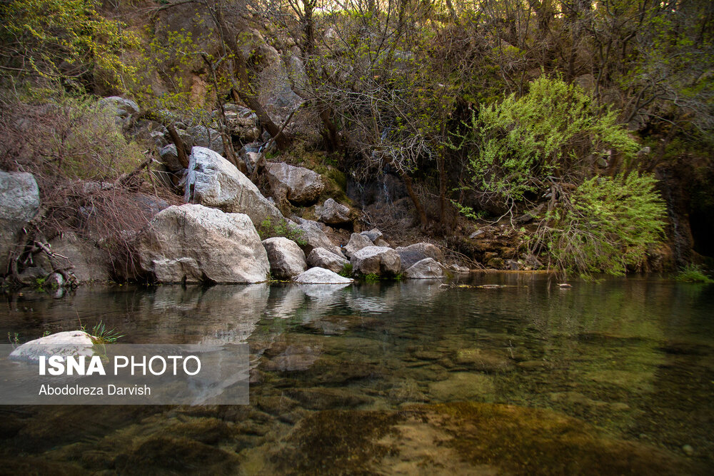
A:
<svg viewBox="0 0 714 476">
<path fill-rule="evenodd" d="M 335 474 L 706 474 L 685 457 L 608 437 L 550 410 L 457 402 L 308 415 L 267 472 Z"/>
</svg>

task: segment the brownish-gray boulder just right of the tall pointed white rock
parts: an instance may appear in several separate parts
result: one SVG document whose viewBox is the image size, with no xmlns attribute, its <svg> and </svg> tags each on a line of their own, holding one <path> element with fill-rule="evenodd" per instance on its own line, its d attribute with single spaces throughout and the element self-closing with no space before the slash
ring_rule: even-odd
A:
<svg viewBox="0 0 714 476">
<path fill-rule="evenodd" d="M 308 168 L 275 162 L 268 163 L 266 170 L 273 196 L 280 201 L 287 198 L 298 205 L 311 205 L 325 189 L 320 174 Z"/>
</svg>

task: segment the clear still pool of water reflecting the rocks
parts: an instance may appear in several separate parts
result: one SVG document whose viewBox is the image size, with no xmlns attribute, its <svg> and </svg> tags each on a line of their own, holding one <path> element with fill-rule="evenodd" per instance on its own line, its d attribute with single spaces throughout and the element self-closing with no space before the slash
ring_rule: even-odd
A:
<svg viewBox="0 0 714 476">
<path fill-rule="evenodd" d="M 547 275 L 518 273 L 475 275 L 466 284 L 503 287 L 124 285 L 79 288 L 61 298 L 11 295 L 0 311 L 0 335 L 17 333 L 21 342 L 100 319 L 120 330 L 124 343 L 247 341 L 251 405 L 0 407 L 0 467 L 106 474 L 532 472 L 533 466 L 508 466 L 525 443 L 506 455 L 492 448 L 488 458 L 473 457 L 486 445 L 464 442 L 463 435 L 476 432 L 467 428 L 473 420 L 461 428 L 442 420 L 428 427 L 403 422 L 385 431 L 366 423 L 401 418 L 415 405 L 420 415 L 433 415 L 446 408 L 436 404 L 480 402 L 547 410 L 534 423 L 546 442 L 555 437 L 550 422 L 562 415 L 591 428 L 598 442 L 681 462 L 681 472 L 714 468 L 714 287 L 633 277 L 563 289 Z M 345 422 L 350 427 L 341 430 Z M 512 439 L 521 433 L 533 439 L 525 435 L 532 428 L 509 428 Z M 373 438 L 352 440 L 352 431 Z M 577 445 L 593 445 L 587 438 Z M 306 441 L 322 452 L 306 457 L 316 450 Z M 540 453 L 545 460 L 537 460 L 536 472 L 601 474 L 588 465 L 549 466 L 558 455 Z"/>
</svg>

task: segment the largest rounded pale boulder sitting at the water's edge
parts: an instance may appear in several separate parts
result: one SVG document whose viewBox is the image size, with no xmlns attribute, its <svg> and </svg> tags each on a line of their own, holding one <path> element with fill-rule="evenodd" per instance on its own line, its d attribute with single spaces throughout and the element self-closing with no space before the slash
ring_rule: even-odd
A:
<svg viewBox="0 0 714 476">
<path fill-rule="evenodd" d="M 136 240 L 141 275 L 159 283 L 259 283 L 270 263 L 251 219 L 201 205 L 170 206 Z"/>
</svg>

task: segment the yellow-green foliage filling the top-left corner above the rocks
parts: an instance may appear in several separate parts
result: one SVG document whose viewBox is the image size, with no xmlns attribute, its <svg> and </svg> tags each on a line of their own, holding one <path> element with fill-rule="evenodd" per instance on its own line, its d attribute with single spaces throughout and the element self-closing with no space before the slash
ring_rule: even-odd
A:
<svg viewBox="0 0 714 476">
<path fill-rule="evenodd" d="M 97 12 L 96 0 L 10 0 L 0 4 L 0 69 L 6 76 L 120 86 L 122 56 L 136 36 Z M 93 86 L 87 84 L 88 86 Z"/>
</svg>

